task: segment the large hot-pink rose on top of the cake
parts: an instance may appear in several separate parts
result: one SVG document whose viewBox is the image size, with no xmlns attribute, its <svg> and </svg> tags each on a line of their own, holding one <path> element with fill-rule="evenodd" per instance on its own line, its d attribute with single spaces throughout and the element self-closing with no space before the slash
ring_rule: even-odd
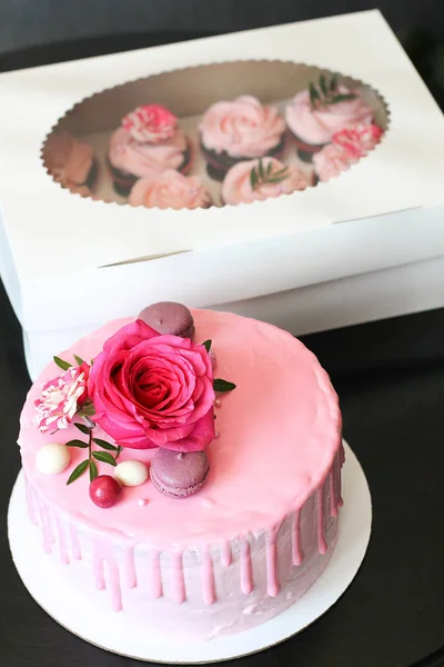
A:
<svg viewBox="0 0 444 667">
<path fill-rule="evenodd" d="M 214 438 L 211 359 L 189 338 L 142 320 L 122 327 L 94 359 L 94 421 L 122 447 L 200 451 Z"/>
</svg>

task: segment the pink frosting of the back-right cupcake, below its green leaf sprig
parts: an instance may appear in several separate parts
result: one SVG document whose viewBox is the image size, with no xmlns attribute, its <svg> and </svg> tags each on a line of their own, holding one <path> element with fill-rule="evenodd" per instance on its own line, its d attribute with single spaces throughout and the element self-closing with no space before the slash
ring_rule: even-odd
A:
<svg viewBox="0 0 444 667">
<path fill-rule="evenodd" d="M 339 86 L 341 94 L 356 94 L 353 100 L 344 100 L 335 104 L 319 106 L 313 109 L 310 92 L 299 92 L 285 109 L 285 120 L 290 130 L 302 141 L 311 145 L 327 143 L 334 132 L 339 132 L 352 123 L 370 123 L 373 110 L 363 100 L 359 90 Z"/>
</svg>

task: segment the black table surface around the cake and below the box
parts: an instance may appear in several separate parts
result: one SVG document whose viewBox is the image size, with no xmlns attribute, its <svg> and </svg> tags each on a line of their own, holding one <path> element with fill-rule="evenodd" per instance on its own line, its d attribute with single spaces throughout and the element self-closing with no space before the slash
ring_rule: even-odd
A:
<svg viewBox="0 0 444 667">
<path fill-rule="evenodd" d="M 0 69 L 109 50 L 110 42 L 98 42 L 95 49 L 88 42 L 64 50 L 31 50 L 3 57 Z M 362 568 L 340 601 L 299 636 L 243 658 L 245 666 L 444 665 L 443 331 L 444 310 L 437 310 L 304 338 L 340 394 L 344 435 L 372 492 L 373 532 Z M 20 469 L 14 442 L 30 380 L 20 326 L 1 286 L 0 378 L 0 665 L 139 664 L 107 654 L 58 626 L 29 596 L 12 564 L 6 512 Z"/>
</svg>

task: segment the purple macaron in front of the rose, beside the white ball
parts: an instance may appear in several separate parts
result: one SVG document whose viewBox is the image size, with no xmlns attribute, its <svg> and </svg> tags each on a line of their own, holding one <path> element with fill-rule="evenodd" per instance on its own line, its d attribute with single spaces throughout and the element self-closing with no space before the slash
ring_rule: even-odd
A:
<svg viewBox="0 0 444 667">
<path fill-rule="evenodd" d="M 161 447 L 151 461 L 150 477 L 161 494 L 188 498 L 202 488 L 209 469 L 204 451 L 181 452 Z"/>
</svg>

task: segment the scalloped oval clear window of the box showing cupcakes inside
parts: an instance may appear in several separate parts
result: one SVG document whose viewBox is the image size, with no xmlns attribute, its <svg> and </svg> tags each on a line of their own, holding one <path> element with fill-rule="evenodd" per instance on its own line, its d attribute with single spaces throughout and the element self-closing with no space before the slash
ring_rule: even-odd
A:
<svg viewBox="0 0 444 667">
<path fill-rule="evenodd" d="M 297 197 L 371 159 L 387 127 L 387 104 L 365 82 L 294 62 L 223 62 L 82 100 L 52 128 L 42 159 L 74 195 L 209 208 Z"/>
</svg>

